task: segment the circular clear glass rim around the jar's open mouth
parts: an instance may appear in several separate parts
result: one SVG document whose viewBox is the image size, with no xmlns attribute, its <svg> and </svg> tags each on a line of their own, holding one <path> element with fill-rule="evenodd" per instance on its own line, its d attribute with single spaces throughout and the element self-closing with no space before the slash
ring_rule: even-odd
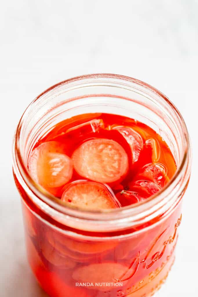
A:
<svg viewBox="0 0 198 297">
<path fill-rule="evenodd" d="M 185 149 L 183 150 L 183 156 L 181 158 L 181 162 L 177 167 L 177 170 L 174 176 L 170 179 L 170 181 L 161 189 L 161 191 L 157 192 L 155 195 L 145 199 L 142 202 L 136 203 L 130 206 L 124 206 L 122 208 L 115 208 L 111 210 L 103 210 L 103 211 L 87 211 L 80 209 L 78 207 L 66 206 L 66 204 L 61 201 L 59 198 L 56 198 L 49 192 L 47 192 L 44 188 L 42 188 L 39 184 L 37 184 L 30 176 L 26 165 L 23 162 L 22 152 L 20 151 L 20 135 L 21 135 L 21 128 L 23 125 L 24 120 L 26 119 L 26 115 L 28 111 L 34 106 L 34 103 L 44 94 L 50 92 L 51 90 L 59 87 L 61 85 L 65 85 L 71 82 L 89 79 L 89 78 L 113 78 L 115 80 L 124 80 L 128 81 L 129 83 L 132 82 L 136 85 L 142 86 L 144 89 L 149 89 L 150 91 L 159 95 L 166 105 L 169 105 L 177 115 L 180 124 L 182 125 L 182 132 L 183 132 L 183 140 L 185 141 Z M 76 218 L 83 218 L 89 220 L 113 220 L 113 219 L 125 219 L 127 217 L 134 217 L 136 220 L 137 215 L 141 214 L 142 218 L 147 217 L 148 215 L 156 212 L 157 210 L 161 209 L 166 203 L 173 203 L 173 195 L 170 194 L 173 189 L 177 186 L 178 181 L 183 178 L 186 174 L 186 184 L 190 176 L 190 165 L 191 165 L 191 145 L 189 140 L 188 131 L 186 128 L 186 124 L 177 110 L 175 105 L 159 90 L 155 89 L 154 87 L 150 86 L 147 83 L 142 82 L 141 80 L 137 80 L 134 78 L 130 78 L 123 75 L 116 75 L 116 74 L 106 74 L 106 73 L 99 73 L 99 74 L 89 74 L 89 75 L 82 75 L 75 78 L 71 78 L 68 80 L 64 80 L 60 83 L 57 83 L 44 92 L 42 92 L 34 101 L 30 103 L 30 105 L 26 108 L 25 112 L 23 113 L 18 127 L 16 129 L 14 139 L 13 139 L 13 146 L 12 146 L 12 157 L 13 157 L 13 169 L 14 172 L 20 182 L 20 184 L 25 188 L 26 192 L 34 196 L 34 202 L 38 200 L 42 200 L 48 206 L 56 211 L 60 212 L 63 215 L 69 215 Z M 188 173 L 186 173 L 188 172 Z"/>
</svg>

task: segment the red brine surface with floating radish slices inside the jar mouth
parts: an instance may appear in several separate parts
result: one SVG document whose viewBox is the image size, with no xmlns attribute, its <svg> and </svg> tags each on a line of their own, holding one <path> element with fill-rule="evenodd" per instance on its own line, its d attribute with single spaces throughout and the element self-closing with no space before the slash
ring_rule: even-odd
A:
<svg viewBox="0 0 198 297">
<path fill-rule="evenodd" d="M 32 150 L 28 169 L 35 181 L 68 205 L 80 208 L 82 201 L 83 208 L 87 203 L 88 209 L 100 210 L 126 206 L 122 195 L 136 195 L 138 201 L 150 197 L 172 178 L 176 165 L 164 140 L 145 124 L 93 113 L 57 124 Z M 94 189 L 103 206 L 89 200 L 96 198 Z M 127 205 L 134 202 L 128 199 Z"/>
</svg>

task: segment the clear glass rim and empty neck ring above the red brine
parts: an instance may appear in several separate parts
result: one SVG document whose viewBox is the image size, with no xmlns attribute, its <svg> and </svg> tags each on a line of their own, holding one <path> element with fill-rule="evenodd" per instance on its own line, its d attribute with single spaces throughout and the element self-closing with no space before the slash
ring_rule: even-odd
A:
<svg viewBox="0 0 198 297">
<path fill-rule="evenodd" d="M 137 203 L 137 206 L 109 212 L 84 212 L 65 207 L 60 199 L 33 183 L 26 172 L 27 162 L 37 141 L 56 124 L 83 113 L 126 116 L 151 127 L 169 146 L 180 174 L 176 172 L 175 178 L 158 195 Z M 123 229 L 165 214 L 178 203 L 190 175 L 188 144 L 188 133 L 180 113 L 161 92 L 133 78 L 110 74 L 87 75 L 52 86 L 29 105 L 16 133 L 14 171 L 33 203 L 61 224 L 68 225 L 69 216 L 69 224 L 75 228 L 104 230 L 105 226 L 109 230 Z"/>
</svg>

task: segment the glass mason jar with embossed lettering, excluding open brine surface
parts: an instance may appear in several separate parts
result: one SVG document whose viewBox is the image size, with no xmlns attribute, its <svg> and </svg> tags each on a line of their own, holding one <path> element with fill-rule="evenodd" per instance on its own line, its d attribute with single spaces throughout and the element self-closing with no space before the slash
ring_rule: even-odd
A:
<svg viewBox="0 0 198 297">
<path fill-rule="evenodd" d="M 28 156 L 54 125 L 83 113 L 137 119 L 166 141 L 177 164 L 170 182 L 135 205 L 108 211 L 65 206 L 31 179 Z M 13 173 L 21 195 L 31 269 L 52 297 L 149 297 L 175 258 L 181 201 L 191 170 L 186 125 L 160 91 L 113 74 L 65 80 L 40 94 L 23 113 L 13 141 Z"/>
</svg>

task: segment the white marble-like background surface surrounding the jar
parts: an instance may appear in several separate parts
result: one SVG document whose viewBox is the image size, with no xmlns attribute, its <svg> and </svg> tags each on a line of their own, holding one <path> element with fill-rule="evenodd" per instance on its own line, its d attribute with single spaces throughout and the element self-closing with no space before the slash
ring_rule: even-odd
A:
<svg viewBox="0 0 198 297">
<path fill-rule="evenodd" d="M 1 296 L 45 296 L 26 261 L 11 142 L 27 105 L 67 78 L 109 72 L 143 80 L 182 113 L 193 144 L 177 257 L 160 297 L 195 296 L 197 240 L 197 1 L 3 1 L 0 8 Z"/>
</svg>

